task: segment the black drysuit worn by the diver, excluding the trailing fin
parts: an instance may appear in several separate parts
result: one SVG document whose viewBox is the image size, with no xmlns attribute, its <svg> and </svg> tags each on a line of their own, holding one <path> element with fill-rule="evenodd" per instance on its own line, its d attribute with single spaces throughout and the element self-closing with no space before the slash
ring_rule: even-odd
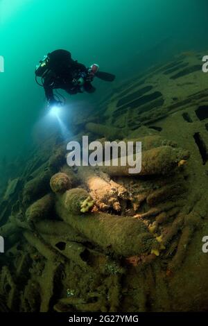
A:
<svg viewBox="0 0 208 326">
<path fill-rule="evenodd" d="M 64 89 L 69 94 L 95 91 L 95 87 L 91 84 L 92 80 L 88 78 L 88 69 L 85 65 L 73 60 L 69 51 L 55 50 L 49 53 L 46 59 L 41 61 L 41 64 L 36 69 L 35 74 L 42 77 L 44 91 L 49 103 L 55 102 L 53 89 Z M 82 88 L 77 83 L 80 76 L 85 80 Z"/>
</svg>

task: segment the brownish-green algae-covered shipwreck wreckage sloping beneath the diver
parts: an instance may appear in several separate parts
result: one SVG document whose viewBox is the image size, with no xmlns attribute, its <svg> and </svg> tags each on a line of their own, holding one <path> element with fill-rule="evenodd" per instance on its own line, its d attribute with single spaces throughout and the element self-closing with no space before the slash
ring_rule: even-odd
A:
<svg viewBox="0 0 208 326">
<path fill-rule="evenodd" d="M 208 96 L 205 76 L 193 69 L 199 58 L 178 55 L 143 74 L 142 85 L 140 76 L 128 80 L 102 116 L 83 121 L 92 140 L 142 141 L 138 175 L 123 166 L 70 168 L 61 141 L 8 182 L 1 310 L 207 309 Z"/>
</svg>

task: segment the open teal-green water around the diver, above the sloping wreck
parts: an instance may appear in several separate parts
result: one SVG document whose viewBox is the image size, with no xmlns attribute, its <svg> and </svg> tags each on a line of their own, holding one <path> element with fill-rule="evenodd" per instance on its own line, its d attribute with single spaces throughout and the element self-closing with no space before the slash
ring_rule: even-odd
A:
<svg viewBox="0 0 208 326">
<path fill-rule="evenodd" d="M 46 110 L 34 69 L 46 53 L 67 49 L 85 65 L 98 62 L 116 74 L 116 85 L 175 53 L 206 49 L 207 9 L 204 0 L 0 0 L 1 169 L 31 149 L 34 126 Z M 69 110 L 76 102 L 90 107 L 113 87 L 95 85 L 93 95 L 67 95 L 74 103 Z"/>
</svg>

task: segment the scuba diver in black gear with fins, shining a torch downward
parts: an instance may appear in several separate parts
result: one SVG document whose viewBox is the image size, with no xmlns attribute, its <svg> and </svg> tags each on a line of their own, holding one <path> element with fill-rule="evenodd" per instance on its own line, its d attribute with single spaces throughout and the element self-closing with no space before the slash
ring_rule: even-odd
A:
<svg viewBox="0 0 208 326">
<path fill-rule="evenodd" d="M 40 77 L 42 83 L 37 78 Z M 59 96 L 54 95 L 53 89 L 64 89 L 73 95 L 77 93 L 93 93 L 92 85 L 94 77 L 112 82 L 114 75 L 99 71 L 99 66 L 94 64 L 87 68 L 85 65 L 73 60 L 71 53 L 66 50 L 55 50 L 44 57 L 35 69 L 35 80 L 38 85 L 44 87 L 46 99 L 51 105 L 61 105 Z M 56 98 L 58 99 L 56 99 Z"/>
</svg>

